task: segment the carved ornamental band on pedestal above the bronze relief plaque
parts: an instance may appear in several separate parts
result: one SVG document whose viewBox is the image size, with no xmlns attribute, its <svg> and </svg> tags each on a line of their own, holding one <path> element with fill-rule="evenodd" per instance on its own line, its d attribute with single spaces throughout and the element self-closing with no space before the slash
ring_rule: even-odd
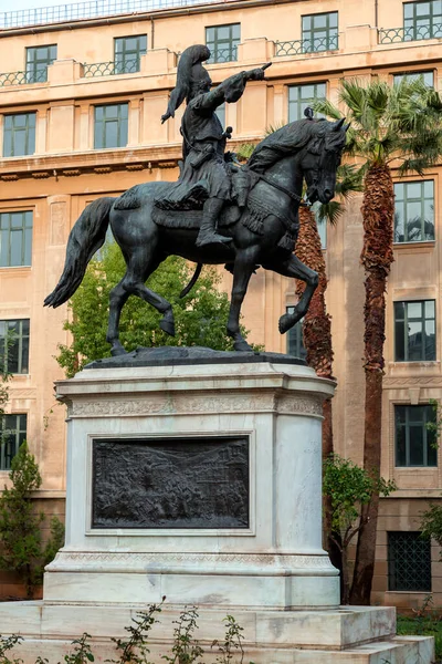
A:
<svg viewBox="0 0 442 664">
<path fill-rule="evenodd" d="M 212 394 L 188 396 L 151 395 L 149 398 L 106 398 L 73 401 L 69 405 L 70 417 L 122 417 L 137 415 L 170 415 L 193 413 L 255 413 L 323 415 L 323 401 L 316 395 L 238 395 Z"/>
</svg>

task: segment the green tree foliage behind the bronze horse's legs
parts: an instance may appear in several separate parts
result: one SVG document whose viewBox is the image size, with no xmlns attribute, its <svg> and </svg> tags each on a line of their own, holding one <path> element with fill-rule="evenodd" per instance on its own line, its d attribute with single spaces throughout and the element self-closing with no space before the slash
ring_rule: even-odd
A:
<svg viewBox="0 0 442 664">
<path fill-rule="evenodd" d="M 69 377 L 88 362 L 110 355 L 106 342 L 109 292 L 125 272 L 125 262 L 116 242 L 105 246 L 102 258 L 91 261 L 83 282 L 70 301 L 71 317 L 65 330 L 72 333 L 70 345 L 60 345 L 56 357 Z M 217 286 L 220 277 L 213 268 L 204 268 L 190 293 L 179 294 L 190 281 L 192 270 L 179 257 L 169 257 L 148 279 L 147 287 L 164 295 L 173 307 L 176 335 L 159 328 L 161 314 L 139 298 L 131 295 L 123 308 L 120 339 L 127 351 L 137 346 L 202 345 L 214 350 L 232 350 L 227 335 L 229 298 Z M 242 330 L 245 334 L 245 331 Z"/>
</svg>

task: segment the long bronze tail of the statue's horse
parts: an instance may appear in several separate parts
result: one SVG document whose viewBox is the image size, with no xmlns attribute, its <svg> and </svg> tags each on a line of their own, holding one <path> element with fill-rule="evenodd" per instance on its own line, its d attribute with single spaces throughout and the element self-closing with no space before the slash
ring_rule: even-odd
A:
<svg viewBox="0 0 442 664">
<path fill-rule="evenodd" d="M 60 307 L 81 284 L 87 263 L 104 245 L 114 201 L 115 198 L 110 197 L 97 198 L 81 214 L 67 240 L 63 274 L 55 289 L 44 300 L 45 307 Z"/>
</svg>

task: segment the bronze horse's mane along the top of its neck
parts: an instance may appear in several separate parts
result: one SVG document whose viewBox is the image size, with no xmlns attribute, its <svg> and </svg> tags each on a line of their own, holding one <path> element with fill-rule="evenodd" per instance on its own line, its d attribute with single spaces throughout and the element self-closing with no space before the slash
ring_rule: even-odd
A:
<svg viewBox="0 0 442 664">
<path fill-rule="evenodd" d="M 323 136 L 332 123 L 327 120 L 296 120 L 269 134 L 248 160 L 248 168 L 262 173 L 293 152 L 302 149 L 312 136 Z"/>
</svg>

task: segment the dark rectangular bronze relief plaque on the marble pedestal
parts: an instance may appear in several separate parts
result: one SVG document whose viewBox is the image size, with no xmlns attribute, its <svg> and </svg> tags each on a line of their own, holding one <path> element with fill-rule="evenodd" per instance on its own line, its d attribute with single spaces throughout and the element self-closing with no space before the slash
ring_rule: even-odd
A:
<svg viewBox="0 0 442 664">
<path fill-rule="evenodd" d="M 249 528 L 249 438 L 93 440 L 92 528 Z"/>
</svg>

